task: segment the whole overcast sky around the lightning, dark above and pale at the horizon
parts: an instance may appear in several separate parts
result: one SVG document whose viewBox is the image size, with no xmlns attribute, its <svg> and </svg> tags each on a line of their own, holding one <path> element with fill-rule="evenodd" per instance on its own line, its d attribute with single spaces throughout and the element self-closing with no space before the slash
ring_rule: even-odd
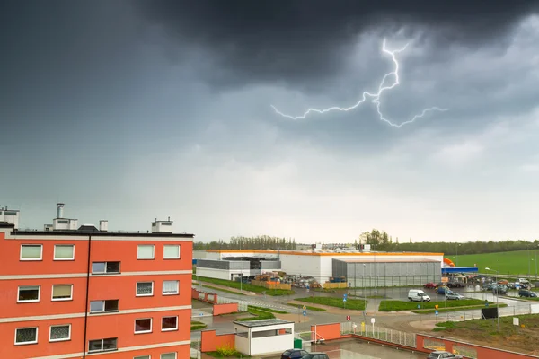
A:
<svg viewBox="0 0 539 359">
<path fill-rule="evenodd" d="M 537 2 L 435 3 L 4 1 L 0 206 L 202 241 L 534 240 Z M 384 39 L 408 44 L 396 126 L 368 96 L 271 108 L 377 92 Z"/>
</svg>

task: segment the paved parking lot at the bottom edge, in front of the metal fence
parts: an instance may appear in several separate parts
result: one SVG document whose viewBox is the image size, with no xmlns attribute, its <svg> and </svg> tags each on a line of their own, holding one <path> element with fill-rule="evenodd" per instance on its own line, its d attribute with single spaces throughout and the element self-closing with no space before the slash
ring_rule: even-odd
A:
<svg viewBox="0 0 539 359">
<path fill-rule="evenodd" d="M 357 339 L 339 340 L 312 346 L 309 352 L 326 353 L 330 359 L 425 359 L 427 355 L 397 350 L 390 346 L 367 344 Z M 264 356 L 265 359 L 280 359 L 280 355 Z"/>
</svg>

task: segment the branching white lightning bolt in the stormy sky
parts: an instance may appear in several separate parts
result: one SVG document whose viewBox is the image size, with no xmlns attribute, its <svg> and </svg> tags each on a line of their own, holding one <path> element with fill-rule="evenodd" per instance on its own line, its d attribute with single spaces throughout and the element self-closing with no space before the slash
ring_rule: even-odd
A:
<svg viewBox="0 0 539 359">
<path fill-rule="evenodd" d="M 424 117 L 427 113 L 429 113 L 431 111 L 444 112 L 444 111 L 449 110 L 449 109 L 440 109 L 438 107 L 430 107 L 429 109 L 423 109 L 420 112 L 420 114 L 415 115 L 413 118 L 411 118 L 411 119 L 409 119 L 407 121 L 404 121 L 404 122 L 402 122 L 400 124 L 393 123 L 390 119 L 384 117 L 384 113 L 382 113 L 382 109 L 381 109 L 382 103 L 380 102 L 380 97 L 382 96 L 382 94 L 384 92 L 392 90 L 393 88 L 395 88 L 399 84 L 401 84 L 400 78 L 399 78 L 399 61 L 397 61 L 397 54 L 404 51 L 408 47 L 408 45 L 409 44 L 406 44 L 406 45 L 404 45 L 403 48 L 398 48 L 398 49 L 392 51 L 392 50 L 389 50 L 389 49 L 387 49 L 385 47 L 385 39 L 384 39 L 384 42 L 382 44 L 382 52 L 384 52 L 385 54 L 387 54 L 387 55 L 389 55 L 391 57 L 391 59 L 393 61 L 393 64 L 394 64 L 394 70 L 391 73 L 384 74 L 384 77 L 382 78 L 382 82 L 378 86 L 378 92 L 376 92 L 376 93 L 371 93 L 371 92 L 367 92 L 367 91 L 363 92 L 363 96 L 361 97 L 361 100 L 359 100 L 358 102 L 356 102 L 355 104 L 353 104 L 350 107 L 333 106 L 333 107 L 330 107 L 330 108 L 327 108 L 327 109 L 307 109 L 305 111 L 305 113 L 303 115 L 301 115 L 301 116 L 287 115 L 287 114 L 279 111 L 273 105 L 271 105 L 271 108 L 273 110 L 275 110 L 275 112 L 278 115 L 282 116 L 283 118 L 304 119 L 309 114 L 311 114 L 313 112 L 314 113 L 319 113 L 319 114 L 324 114 L 326 112 L 331 112 L 331 111 L 349 111 L 349 110 L 352 110 L 352 109 L 357 109 L 363 102 L 367 101 L 367 99 L 371 99 L 371 102 L 376 104 L 376 111 L 378 112 L 378 119 L 381 120 L 381 121 L 384 121 L 386 124 L 388 124 L 391 127 L 397 127 L 397 128 L 401 128 L 404 125 L 411 124 L 416 119 Z M 389 78 L 389 77 L 393 77 L 393 83 L 385 84 L 387 78 Z"/>
</svg>

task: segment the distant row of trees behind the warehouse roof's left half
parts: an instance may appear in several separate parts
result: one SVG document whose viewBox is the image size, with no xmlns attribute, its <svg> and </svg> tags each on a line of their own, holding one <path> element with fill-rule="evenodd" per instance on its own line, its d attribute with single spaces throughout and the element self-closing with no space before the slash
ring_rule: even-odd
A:
<svg viewBox="0 0 539 359">
<path fill-rule="evenodd" d="M 257 237 L 231 237 L 230 240 L 193 243 L 194 250 L 296 250 L 296 240 L 261 235 Z"/>
</svg>

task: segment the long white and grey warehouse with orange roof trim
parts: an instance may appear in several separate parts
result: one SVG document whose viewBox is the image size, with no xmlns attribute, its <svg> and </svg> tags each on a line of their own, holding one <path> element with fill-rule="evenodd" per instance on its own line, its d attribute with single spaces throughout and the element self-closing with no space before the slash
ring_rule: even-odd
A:
<svg viewBox="0 0 539 359">
<path fill-rule="evenodd" d="M 320 283 L 344 276 L 355 287 L 437 283 L 444 263 L 443 253 L 327 250 L 206 250 L 196 252 L 194 258 L 199 258 L 199 276 L 248 276 L 249 263 L 249 276 L 280 270 L 287 275 L 312 276 Z M 246 264 L 237 263 L 242 260 Z M 254 269 L 253 263 L 268 267 Z"/>
</svg>

